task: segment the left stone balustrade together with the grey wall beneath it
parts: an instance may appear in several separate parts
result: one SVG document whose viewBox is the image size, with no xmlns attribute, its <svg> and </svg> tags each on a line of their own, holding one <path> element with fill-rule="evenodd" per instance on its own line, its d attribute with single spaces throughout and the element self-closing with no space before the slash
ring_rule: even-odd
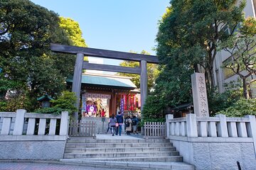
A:
<svg viewBox="0 0 256 170">
<path fill-rule="evenodd" d="M 69 116 L 0 112 L 0 159 L 62 159 Z"/>
</svg>

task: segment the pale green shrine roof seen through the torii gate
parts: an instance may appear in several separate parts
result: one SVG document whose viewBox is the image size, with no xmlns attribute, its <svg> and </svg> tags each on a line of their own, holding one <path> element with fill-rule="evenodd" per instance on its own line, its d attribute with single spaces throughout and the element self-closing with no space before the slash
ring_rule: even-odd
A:
<svg viewBox="0 0 256 170">
<path fill-rule="evenodd" d="M 137 86 L 132 83 L 130 77 L 119 77 L 107 74 L 83 74 L 82 84 L 92 84 L 98 86 L 114 86 L 128 89 L 135 89 Z M 73 82 L 73 78 L 66 79 L 67 82 Z"/>
</svg>

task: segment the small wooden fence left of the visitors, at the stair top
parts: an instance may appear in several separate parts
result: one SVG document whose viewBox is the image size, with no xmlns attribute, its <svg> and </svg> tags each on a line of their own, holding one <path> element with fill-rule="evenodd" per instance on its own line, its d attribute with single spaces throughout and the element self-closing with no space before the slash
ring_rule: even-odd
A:
<svg viewBox="0 0 256 170">
<path fill-rule="evenodd" d="M 96 123 L 93 121 L 70 121 L 70 137 L 96 137 Z"/>
</svg>

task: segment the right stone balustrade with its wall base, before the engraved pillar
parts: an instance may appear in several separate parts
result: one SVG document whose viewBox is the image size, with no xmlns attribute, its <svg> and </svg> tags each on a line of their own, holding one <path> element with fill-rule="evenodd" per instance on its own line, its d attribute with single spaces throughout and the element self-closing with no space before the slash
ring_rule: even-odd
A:
<svg viewBox="0 0 256 170">
<path fill-rule="evenodd" d="M 256 119 L 166 115 L 166 137 L 196 169 L 256 169 Z"/>
</svg>

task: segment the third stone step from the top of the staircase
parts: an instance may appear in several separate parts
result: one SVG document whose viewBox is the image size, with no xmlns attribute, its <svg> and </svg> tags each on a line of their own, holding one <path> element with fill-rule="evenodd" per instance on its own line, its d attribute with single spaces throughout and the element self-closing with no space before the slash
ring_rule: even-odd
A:
<svg viewBox="0 0 256 170">
<path fill-rule="evenodd" d="M 175 147 L 88 147 L 88 148 L 66 148 L 65 153 L 85 152 L 167 152 L 176 151 Z"/>
</svg>

